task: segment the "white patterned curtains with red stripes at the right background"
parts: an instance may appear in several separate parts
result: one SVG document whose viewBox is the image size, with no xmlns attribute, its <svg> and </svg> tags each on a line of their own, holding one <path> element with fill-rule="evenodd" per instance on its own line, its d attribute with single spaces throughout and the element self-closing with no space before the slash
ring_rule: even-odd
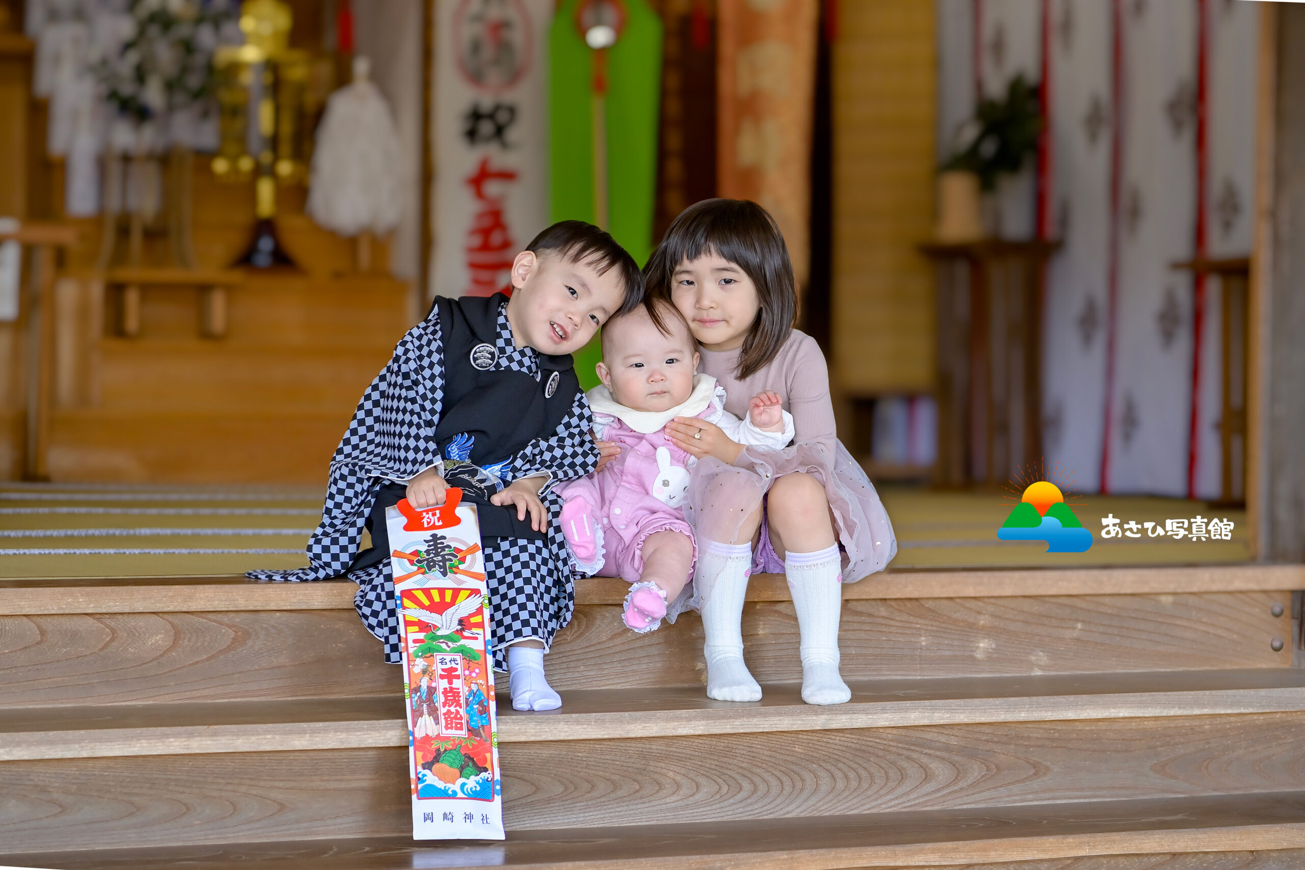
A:
<svg viewBox="0 0 1305 870">
<path fill-rule="evenodd" d="M 1043 177 L 1031 166 L 1006 181 L 997 209 L 1002 235 L 1027 239 L 1041 198 L 1062 241 L 1045 296 L 1044 451 L 1082 492 L 1219 494 L 1219 280 L 1198 305 L 1199 282 L 1173 263 L 1250 249 L 1257 5 L 938 0 L 976 33 L 972 52 L 940 51 L 940 87 L 998 95 L 1019 72 L 1048 76 Z"/>
</svg>

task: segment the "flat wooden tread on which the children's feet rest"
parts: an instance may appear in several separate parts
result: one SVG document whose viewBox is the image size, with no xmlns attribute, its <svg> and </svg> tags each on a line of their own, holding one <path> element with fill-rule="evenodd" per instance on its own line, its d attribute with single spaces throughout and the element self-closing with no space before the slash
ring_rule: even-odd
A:
<svg viewBox="0 0 1305 870">
<path fill-rule="evenodd" d="M 1305 711 L 1305 670 L 1249 669 L 852 681 L 846 704 L 797 683 L 754 703 L 697 687 L 564 691 L 561 710 L 499 711 L 500 743 Z M 0 710 L 0 762 L 407 746 L 398 695 Z M 317 728 L 321 725 L 321 728 Z M 337 727 L 338 725 L 338 727 Z M 257 742 L 251 742 L 257 738 Z"/>
</svg>

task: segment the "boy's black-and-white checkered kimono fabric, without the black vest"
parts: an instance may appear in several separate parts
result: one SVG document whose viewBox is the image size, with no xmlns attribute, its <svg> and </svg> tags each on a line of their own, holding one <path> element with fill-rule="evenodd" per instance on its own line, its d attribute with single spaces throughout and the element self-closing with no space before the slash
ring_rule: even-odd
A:
<svg viewBox="0 0 1305 870">
<path fill-rule="evenodd" d="M 513 346 L 506 304 L 499 309 L 495 346 L 499 357 L 493 368 L 525 372 L 539 380 L 534 348 Z M 308 539 L 309 566 L 249 571 L 254 579 L 275 582 L 325 580 L 347 574 L 359 584 L 354 607 L 367 629 L 385 644 L 385 660 L 392 664 L 401 661 L 402 635 L 390 560 L 352 574 L 348 566 L 358 554 L 364 522 L 381 485 L 403 483 L 438 464 L 435 428 L 442 400 L 444 340 L 438 309 L 432 309 L 394 348 L 394 357 L 363 394 L 348 432 L 335 449 L 322 522 Z M 591 428 L 589 402 L 579 393 L 557 429 L 526 445 L 499 475 L 505 484 L 548 475 L 540 498 L 551 517 L 547 540 L 502 537 L 484 549 L 491 642 L 500 670 L 506 669 L 508 644 L 534 638 L 547 647 L 570 622 L 577 574 L 557 523 L 561 497 L 552 485 L 581 477 L 598 464 Z"/>
</svg>

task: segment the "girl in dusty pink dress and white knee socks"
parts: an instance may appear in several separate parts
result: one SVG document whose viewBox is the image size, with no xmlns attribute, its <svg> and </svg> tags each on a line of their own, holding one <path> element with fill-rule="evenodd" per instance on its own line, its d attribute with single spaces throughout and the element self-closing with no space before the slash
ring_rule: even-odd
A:
<svg viewBox="0 0 1305 870">
<path fill-rule="evenodd" d="M 705 420 L 667 434 L 698 458 L 686 517 L 698 544 L 694 599 L 706 634 L 707 695 L 760 700 L 743 660 L 744 595 L 756 571 L 788 577 L 801 631 L 803 700 L 840 704 L 839 583 L 897 554 L 883 505 L 838 441 L 829 372 L 816 340 L 792 327 L 797 293 L 788 249 L 760 205 L 706 200 L 685 209 L 643 269 L 647 292 L 689 321 L 701 368 L 726 389 L 726 410 L 771 390 L 793 416 L 793 443 L 748 447 Z"/>
</svg>

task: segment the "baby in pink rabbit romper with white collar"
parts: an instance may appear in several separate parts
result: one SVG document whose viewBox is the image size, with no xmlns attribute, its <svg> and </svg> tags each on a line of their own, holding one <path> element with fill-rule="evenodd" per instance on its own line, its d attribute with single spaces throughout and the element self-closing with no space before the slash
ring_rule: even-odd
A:
<svg viewBox="0 0 1305 870">
<path fill-rule="evenodd" d="M 599 471 L 559 485 L 562 535 L 582 573 L 633 583 L 624 621 L 652 631 L 693 577 L 697 547 L 684 519 L 696 459 L 663 428 L 699 417 L 739 443 L 783 449 L 793 419 L 775 393 L 753 397 L 748 420 L 724 410 L 724 390 L 697 374 L 698 353 L 684 316 L 668 300 L 612 317 L 603 326 L 603 381 L 587 393 L 594 433 L 621 451 Z M 673 618 L 673 614 L 672 614 Z"/>
</svg>

